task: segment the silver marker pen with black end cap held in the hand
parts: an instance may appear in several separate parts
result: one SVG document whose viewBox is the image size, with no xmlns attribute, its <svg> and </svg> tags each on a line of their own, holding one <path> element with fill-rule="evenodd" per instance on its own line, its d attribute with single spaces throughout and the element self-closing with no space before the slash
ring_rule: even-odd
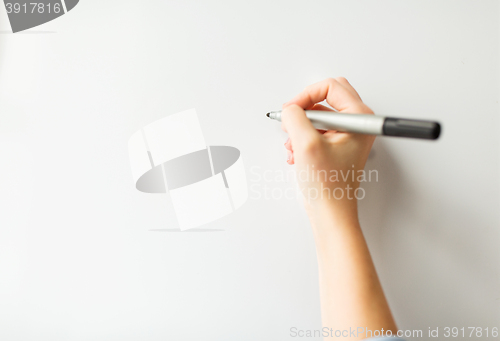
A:
<svg viewBox="0 0 500 341">
<path fill-rule="evenodd" d="M 266 116 L 281 122 L 281 110 L 268 112 Z M 321 130 L 428 140 L 437 139 L 441 133 L 441 126 L 433 121 L 320 110 L 306 110 L 306 116 L 316 129 Z"/>
</svg>

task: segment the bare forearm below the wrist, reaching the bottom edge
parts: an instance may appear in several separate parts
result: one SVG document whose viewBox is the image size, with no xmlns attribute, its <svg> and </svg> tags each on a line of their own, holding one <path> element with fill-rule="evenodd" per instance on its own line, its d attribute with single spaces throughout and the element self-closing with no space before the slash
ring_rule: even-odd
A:
<svg viewBox="0 0 500 341">
<path fill-rule="evenodd" d="M 316 241 L 323 326 L 396 333 L 355 203 L 326 203 L 309 210 Z M 363 339 L 365 335 L 358 335 Z"/>
</svg>

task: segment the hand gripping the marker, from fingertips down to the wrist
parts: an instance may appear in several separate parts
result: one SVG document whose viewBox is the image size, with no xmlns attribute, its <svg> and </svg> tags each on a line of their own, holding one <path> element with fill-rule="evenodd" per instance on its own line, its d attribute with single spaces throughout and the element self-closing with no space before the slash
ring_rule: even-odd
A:
<svg viewBox="0 0 500 341">
<path fill-rule="evenodd" d="M 363 193 L 356 190 L 375 136 L 316 130 L 304 110 L 331 110 L 317 104 L 325 99 L 338 112 L 373 114 L 343 77 L 306 87 L 283 105 L 282 129 L 289 135 L 287 162 L 296 165 L 308 213 L 326 205 L 357 218 L 356 196 Z"/>
</svg>

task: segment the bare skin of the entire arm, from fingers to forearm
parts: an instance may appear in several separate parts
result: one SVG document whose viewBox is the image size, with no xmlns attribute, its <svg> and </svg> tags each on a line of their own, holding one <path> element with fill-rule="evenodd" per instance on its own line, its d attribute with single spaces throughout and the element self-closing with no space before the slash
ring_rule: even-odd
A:
<svg viewBox="0 0 500 341">
<path fill-rule="evenodd" d="M 339 112 L 373 114 L 343 77 L 310 85 L 283 105 L 282 129 L 289 135 L 285 143 L 287 162 L 295 165 L 298 175 L 304 174 L 297 179 L 316 243 L 323 327 L 334 331 L 383 329 L 395 335 L 397 327 L 359 224 L 353 194 L 359 187 L 358 179 L 352 181 L 349 176 L 344 181 L 342 176 L 329 176 L 332 170 L 360 174 L 375 137 L 316 130 L 304 110 L 331 110 L 318 104 L 324 100 Z M 317 172 L 314 177 L 313 171 Z M 342 339 L 370 336 L 363 330 L 355 337 L 351 334 Z"/>
</svg>

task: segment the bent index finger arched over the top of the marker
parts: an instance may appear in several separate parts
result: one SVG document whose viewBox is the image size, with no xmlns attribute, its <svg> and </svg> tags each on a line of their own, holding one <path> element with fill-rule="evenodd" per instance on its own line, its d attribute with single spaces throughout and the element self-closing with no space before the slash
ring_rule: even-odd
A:
<svg viewBox="0 0 500 341">
<path fill-rule="evenodd" d="M 310 109 L 316 103 L 325 99 L 328 104 L 338 111 L 346 111 L 363 104 L 360 98 L 354 96 L 351 91 L 346 89 L 337 80 L 327 78 L 321 82 L 309 85 L 284 106 L 297 104 L 303 109 Z"/>
</svg>

